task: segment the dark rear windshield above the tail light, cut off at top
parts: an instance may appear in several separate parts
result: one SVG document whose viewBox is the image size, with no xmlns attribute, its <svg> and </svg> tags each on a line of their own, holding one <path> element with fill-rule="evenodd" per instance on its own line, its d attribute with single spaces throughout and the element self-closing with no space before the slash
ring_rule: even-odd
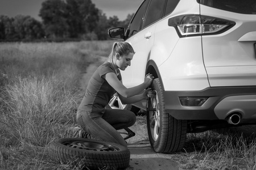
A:
<svg viewBox="0 0 256 170">
<path fill-rule="evenodd" d="M 240 14 L 256 14 L 255 0 L 197 0 L 201 5 Z"/>
</svg>

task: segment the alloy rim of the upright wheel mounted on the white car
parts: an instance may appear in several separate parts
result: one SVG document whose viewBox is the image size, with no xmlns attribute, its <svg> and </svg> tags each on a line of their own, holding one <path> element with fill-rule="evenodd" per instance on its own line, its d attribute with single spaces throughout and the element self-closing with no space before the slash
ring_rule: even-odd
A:
<svg viewBox="0 0 256 170">
<path fill-rule="evenodd" d="M 155 96 L 151 99 L 152 108 L 155 109 L 155 111 L 151 111 L 151 125 L 154 125 L 154 128 L 151 127 L 151 135 L 154 141 L 157 141 L 159 137 L 159 128 L 160 128 L 160 107 L 159 107 L 159 99 L 158 99 L 158 93 L 156 90 L 154 90 Z"/>
</svg>

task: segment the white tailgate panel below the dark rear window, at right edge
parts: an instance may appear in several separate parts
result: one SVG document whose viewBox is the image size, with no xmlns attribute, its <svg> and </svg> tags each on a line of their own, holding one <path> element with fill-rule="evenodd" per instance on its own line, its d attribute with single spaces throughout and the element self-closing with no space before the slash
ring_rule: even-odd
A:
<svg viewBox="0 0 256 170">
<path fill-rule="evenodd" d="M 236 22 L 224 33 L 203 36 L 203 56 L 210 86 L 255 86 L 256 15 L 237 14 L 204 5 L 200 10 L 201 15 Z"/>
</svg>

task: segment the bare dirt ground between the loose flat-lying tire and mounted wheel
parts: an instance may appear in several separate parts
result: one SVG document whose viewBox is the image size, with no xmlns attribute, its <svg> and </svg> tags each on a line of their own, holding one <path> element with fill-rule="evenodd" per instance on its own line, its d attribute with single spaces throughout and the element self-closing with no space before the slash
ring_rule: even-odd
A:
<svg viewBox="0 0 256 170">
<path fill-rule="evenodd" d="M 130 164 L 126 170 L 178 170 L 178 163 L 175 162 L 172 154 L 156 153 L 148 141 L 146 130 L 146 118 L 138 117 L 137 123 L 130 127 L 135 132 L 135 136 L 127 139 L 130 150 Z"/>
</svg>

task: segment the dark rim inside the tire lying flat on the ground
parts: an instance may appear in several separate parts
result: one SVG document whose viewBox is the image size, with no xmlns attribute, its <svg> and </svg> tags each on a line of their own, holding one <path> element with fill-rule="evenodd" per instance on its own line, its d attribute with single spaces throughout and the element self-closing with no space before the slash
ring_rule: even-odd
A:
<svg viewBox="0 0 256 170">
<path fill-rule="evenodd" d="M 87 142 L 87 141 L 70 141 L 64 143 L 64 145 L 79 148 L 82 150 L 92 150 L 92 151 L 119 151 L 118 147 L 107 145 L 105 143 L 100 142 Z"/>
</svg>

